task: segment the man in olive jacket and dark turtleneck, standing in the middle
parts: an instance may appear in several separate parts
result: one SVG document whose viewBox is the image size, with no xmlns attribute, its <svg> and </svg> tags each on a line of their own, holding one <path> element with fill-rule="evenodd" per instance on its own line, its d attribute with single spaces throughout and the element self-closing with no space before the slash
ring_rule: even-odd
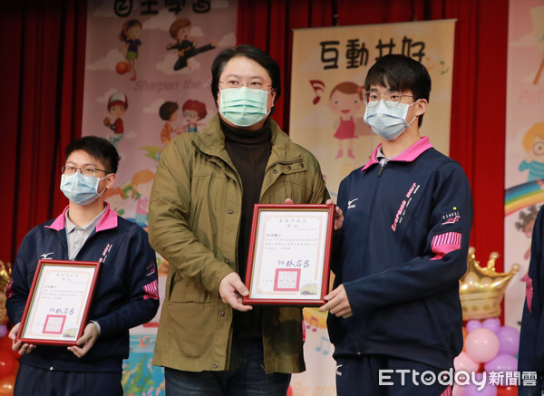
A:
<svg viewBox="0 0 544 396">
<path fill-rule="evenodd" d="M 151 246 L 170 263 L 153 364 L 170 396 L 285 396 L 305 370 L 302 310 L 242 304 L 253 207 L 328 192 L 316 158 L 269 118 L 281 90 L 270 55 L 239 45 L 211 74 L 219 114 L 162 151 L 151 191 Z"/>
</svg>

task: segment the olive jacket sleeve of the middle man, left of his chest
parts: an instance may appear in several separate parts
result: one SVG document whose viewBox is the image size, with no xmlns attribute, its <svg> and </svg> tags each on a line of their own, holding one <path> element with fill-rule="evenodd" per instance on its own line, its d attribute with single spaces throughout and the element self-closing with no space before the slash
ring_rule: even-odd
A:
<svg viewBox="0 0 544 396">
<path fill-rule="evenodd" d="M 149 206 L 150 242 L 186 279 L 217 294 L 221 280 L 234 269 L 220 261 L 189 227 L 193 176 L 189 144 L 172 140 L 160 155 Z"/>
</svg>

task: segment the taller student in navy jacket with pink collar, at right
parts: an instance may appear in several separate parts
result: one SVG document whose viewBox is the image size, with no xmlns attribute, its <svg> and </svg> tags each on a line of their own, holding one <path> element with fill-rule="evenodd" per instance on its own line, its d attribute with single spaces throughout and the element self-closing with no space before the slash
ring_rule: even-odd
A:
<svg viewBox="0 0 544 396">
<path fill-rule="evenodd" d="M 364 121 L 381 143 L 340 184 L 335 285 L 320 307 L 329 311 L 336 390 L 450 395 L 439 373 L 452 369 L 462 349 L 459 279 L 467 269 L 471 188 L 461 166 L 420 136 L 431 92 L 422 63 L 386 55 L 364 88 Z"/>
</svg>

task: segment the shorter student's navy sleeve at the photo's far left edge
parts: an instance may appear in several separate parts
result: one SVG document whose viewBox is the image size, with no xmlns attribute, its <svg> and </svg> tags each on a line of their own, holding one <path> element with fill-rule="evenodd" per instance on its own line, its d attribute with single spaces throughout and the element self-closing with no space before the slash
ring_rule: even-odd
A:
<svg viewBox="0 0 544 396">
<path fill-rule="evenodd" d="M 12 324 L 21 322 L 24 313 L 24 305 L 30 293 L 30 287 L 34 278 L 34 272 L 28 273 L 28 259 L 24 253 L 28 251 L 28 236 L 24 237 L 19 251 L 15 257 L 15 265 L 12 269 L 12 280 L 5 289 L 5 307 Z"/>
</svg>

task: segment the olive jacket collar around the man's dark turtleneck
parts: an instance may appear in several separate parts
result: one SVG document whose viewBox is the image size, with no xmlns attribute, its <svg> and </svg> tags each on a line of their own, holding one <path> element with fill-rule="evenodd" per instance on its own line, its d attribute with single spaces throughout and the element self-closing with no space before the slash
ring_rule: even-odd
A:
<svg viewBox="0 0 544 396">
<path fill-rule="evenodd" d="M 295 150 L 295 143 L 289 139 L 287 134 L 279 128 L 277 122 L 268 118 L 270 130 L 272 130 L 272 153 L 270 159 L 275 161 L 296 161 L 301 159 L 300 150 Z M 221 130 L 219 114 L 213 116 L 208 125 L 200 130 L 195 137 L 195 144 L 202 152 L 217 156 L 230 163 L 227 150 L 225 150 L 225 135 Z"/>
</svg>

